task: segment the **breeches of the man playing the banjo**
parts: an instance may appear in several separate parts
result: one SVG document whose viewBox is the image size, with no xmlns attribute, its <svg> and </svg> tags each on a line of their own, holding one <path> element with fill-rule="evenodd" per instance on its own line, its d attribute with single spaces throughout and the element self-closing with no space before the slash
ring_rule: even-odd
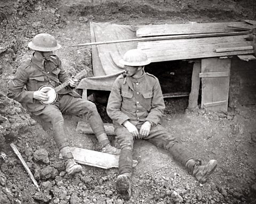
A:
<svg viewBox="0 0 256 204">
<path fill-rule="evenodd" d="M 33 113 L 34 115 L 39 116 L 42 120 L 52 123 L 54 140 L 58 149 L 62 149 L 69 145 L 62 113 L 86 116 L 97 137 L 105 133 L 101 117 L 95 104 L 82 98 L 75 98 L 70 95 L 60 95 L 54 104 L 46 105 L 44 109 Z"/>
</svg>

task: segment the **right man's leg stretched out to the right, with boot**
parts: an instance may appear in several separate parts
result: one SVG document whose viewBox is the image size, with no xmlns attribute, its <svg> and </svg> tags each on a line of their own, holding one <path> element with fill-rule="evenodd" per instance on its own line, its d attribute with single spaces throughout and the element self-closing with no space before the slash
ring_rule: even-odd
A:
<svg viewBox="0 0 256 204">
<path fill-rule="evenodd" d="M 207 177 L 212 174 L 217 167 L 217 161 L 212 159 L 206 165 L 201 165 L 201 160 L 194 159 L 176 139 L 162 125 L 153 126 L 147 138 L 150 142 L 158 147 L 163 147 L 170 151 L 173 158 L 185 166 L 189 174 L 204 183 Z"/>
</svg>

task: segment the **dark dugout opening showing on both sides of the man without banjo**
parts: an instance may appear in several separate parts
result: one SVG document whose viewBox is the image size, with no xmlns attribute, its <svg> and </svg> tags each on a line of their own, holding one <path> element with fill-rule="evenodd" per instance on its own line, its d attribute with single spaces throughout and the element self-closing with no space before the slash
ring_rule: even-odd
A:
<svg viewBox="0 0 256 204">
<path fill-rule="evenodd" d="M 145 71 L 155 75 L 161 84 L 165 101 L 165 113 L 182 113 L 188 107 L 193 64 L 190 61 L 165 61 L 150 63 Z M 88 99 L 93 101 L 103 122 L 111 123 L 106 107 L 110 91 L 88 90 Z"/>
</svg>

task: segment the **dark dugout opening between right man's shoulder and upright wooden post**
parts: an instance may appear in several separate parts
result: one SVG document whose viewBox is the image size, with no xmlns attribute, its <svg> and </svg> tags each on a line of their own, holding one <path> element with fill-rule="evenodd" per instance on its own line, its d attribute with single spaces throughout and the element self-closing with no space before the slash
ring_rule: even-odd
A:
<svg viewBox="0 0 256 204">
<path fill-rule="evenodd" d="M 177 60 L 151 63 L 145 67 L 145 71 L 155 75 L 161 84 L 166 113 L 184 112 L 188 107 L 193 64 Z"/>
</svg>

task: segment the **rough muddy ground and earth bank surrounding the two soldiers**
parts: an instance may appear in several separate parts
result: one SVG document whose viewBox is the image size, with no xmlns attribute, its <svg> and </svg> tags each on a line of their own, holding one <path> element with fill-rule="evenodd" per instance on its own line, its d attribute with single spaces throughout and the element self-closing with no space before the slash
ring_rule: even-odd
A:
<svg viewBox="0 0 256 204">
<path fill-rule="evenodd" d="M 163 125 L 203 163 L 218 160 L 217 171 L 199 184 L 170 155 L 142 140 L 135 142 L 133 191 L 124 201 L 115 190 L 116 168 L 83 166 L 74 177 L 65 168 L 50 124 L 30 117 L 19 103 L 6 98 L 7 82 L 31 50 L 37 33 L 51 33 L 63 45 L 56 54 L 69 75 L 92 76 L 91 50 L 67 45 L 90 42 L 89 22 L 162 24 L 256 20 L 251 1 L 0 1 L 0 203 L 256 203 L 256 106 L 237 106 L 227 113 L 202 109 L 187 112 L 188 98 L 166 99 Z M 97 104 L 105 122 L 105 106 Z M 75 131 L 78 117 L 65 116 L 70 145 L 99 150 L 93 135 Z M 115 142 L 113 137 L 109 137 Z M 26 160 L 37 191 L 19 159 Z"/>
</svg>

